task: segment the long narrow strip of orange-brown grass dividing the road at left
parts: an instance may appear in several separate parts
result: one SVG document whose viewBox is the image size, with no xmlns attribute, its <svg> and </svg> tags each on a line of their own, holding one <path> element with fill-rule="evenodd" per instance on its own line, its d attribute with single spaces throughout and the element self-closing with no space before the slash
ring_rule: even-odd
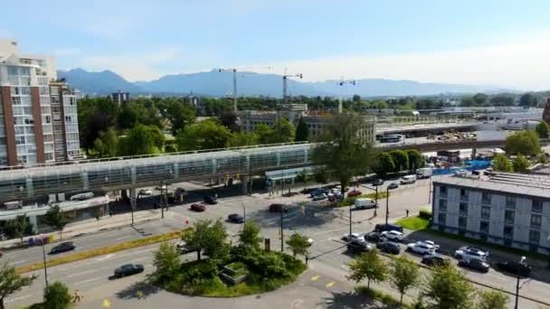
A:
<svg viewBox="0 0 550 309">
<path fill-rule="evenodd" d="M 99 257 L 109 253 L 128 250 L 130 248 L 143 247 L 143 246 L 155 244 L 155 243 L 170 240 L 170 239 L 179 239 L 180 237 L 181 237 L 181 231 L 178 230 L 178 231 L 173 231 L 166 234 L 148 237 L 145 239 L 130 240 L 127 242 L 116 244 L 116 245 L 111 245 L 103 248 L 95 248 L 88 251 L 74 253 L 64 257 L 53 257 L 46 261 L 46 266 L 54 267 L 62 264 L 80 261 L 82 259 L 87 259 L 90 257 Z M 15 270 L 17 271 L 18 274 L 23 274 L 34 270 L 43 269 L 43 267 L 44 267 L 43 262 L 37 262 L 30 265 L 25 265 L 23 267 L 17 267 Z"/>
</svg>

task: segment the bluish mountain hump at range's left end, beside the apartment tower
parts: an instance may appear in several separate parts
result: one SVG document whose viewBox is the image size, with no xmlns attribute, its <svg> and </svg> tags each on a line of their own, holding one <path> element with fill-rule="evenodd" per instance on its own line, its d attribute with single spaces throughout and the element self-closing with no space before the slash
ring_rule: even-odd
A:
<svg viewBox="0 0 550 309">
<path fill-rule="evenodd" d="M 133 93 L 143 91 L 110 70 L 100 72 L 89 72 L 82 69 L 58 70 L 57 77 L 64 78 L 73 88 L 90 95 L 106 95 L 118 91 Z"/>
</svg>

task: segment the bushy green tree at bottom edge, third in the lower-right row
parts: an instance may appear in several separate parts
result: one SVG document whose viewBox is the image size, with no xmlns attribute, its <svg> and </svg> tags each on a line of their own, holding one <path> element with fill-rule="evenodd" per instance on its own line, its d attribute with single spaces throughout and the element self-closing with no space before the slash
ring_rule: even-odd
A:
<svg viewBox="0 0 550 309">
<path fill-rule="evenodd" d="M 450 263 L 436 267 L 428 275 L 422 295 L 431 301 L 434 309 L 469 309 L 474 287 Z"/>
</svg>

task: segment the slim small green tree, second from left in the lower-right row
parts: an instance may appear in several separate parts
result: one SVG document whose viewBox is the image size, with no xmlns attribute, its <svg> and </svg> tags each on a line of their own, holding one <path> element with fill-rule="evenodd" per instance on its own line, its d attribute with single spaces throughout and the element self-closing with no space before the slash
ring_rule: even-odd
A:
<svg viewBox="0 0 550 309">
<path fill-rule="evenodd" d="M 401 295 L 399 303 L 403 304 L 403 295 L 412 286 L 418 284 L 420 278 L 420 270 L 412 260 L 405 256 L 396 257 L 392 260 L 392 268 L 390 270 L 390 282 Z"/>
</svg>

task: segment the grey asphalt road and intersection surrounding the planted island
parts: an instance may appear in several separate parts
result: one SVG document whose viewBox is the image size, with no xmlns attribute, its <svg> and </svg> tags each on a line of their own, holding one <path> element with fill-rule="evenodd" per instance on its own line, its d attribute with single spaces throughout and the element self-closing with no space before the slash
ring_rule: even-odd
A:
<svg viewBox="0 0 550 309">
<path fill-rule="evenodd" d="M 413 214 L 414 212 L 418 211 L 420 207 L 425 206 L 428 203 L 428 184 L 428 181 L 422 180 L 413 185 L 402 186 L 399 189 L 393 191 L 392 196 L 390 197 L 390 220 L 392 221 L 398 218 L 402 218 L 405 215 L 406 210 L 411 211 L 411 213 Z M 367 192 L 365 188 L 362 190 L 364 192 Z M 271 239 L 271 248 L 279 249 L 280 216 L 277 213 L 270 213 L 269 211 L 267 211 L 267 208 L 270 203 L 280 201 L 294 203 L 299 201 L 308 201 L 308 199 L 302 194 L 290 198 L 283 198 L 280 196 L 270 198 L 266 194 L 227 197 L 221 198 L 220 202 L 217 205 L 207 206 L 207 210 L 200 213 L 188 211 L 188 204 L 185 204 L 183 206 L 174 207 L 170 210 L 174 211 L 175 214 L 177 214 L 177 216 L 175 216 L 175 219 L 152 221 L 144 224 L 143 229 L 147 229 L 155 233 L 160 233 L 170 229 L 180 229 L 182 227 L 181 220 L 183 220 L 184 218 L 191 221 L 205 218 L 226 218 L 227 215 L 230 213 L 242 213 L 242 204 L 244 204 L 246 207 L 247 220 L 254 220 L 258 222 L 261 225 L 262 236 Z M 373 218 L 372 210 L 352 212 L 354 232 L 370 231 L 374 228 L 374 225 L 376 223 L 384 221 L 384 217 L 382 216 L 382 214 L 385 212 L 385 201 L 380 201 L 380 205 L 382 208 L 379 210 L 379 215 L 375 218 Z M 348 213 L 349 212 L 347 208 L 334 210 L 324 207 L 323 203 L 308 202 L 305 204 L 305 214 L 301 213 L 301 208 L 299 205 L 294 205 L 290 207 L 289 213 L 285 215 L 285 219 L 283 221 L 286 236 L 292 233 L 293 230 L 296 230 L 314 239 L 314 244 L 310 250 L 310 256 L 316 258 L 310 262 L 311 268 L 309 272 L 317 273 L 318 275 L 315 276 L 321 276 L 323 280 L 330 280 L 329 282 L 325 283 L 326 285 L 332 281 L 338 283 L 335 285 L 337 285 L 337 288 L 341 288 L 342 291 L 351 291 L 353 289 L 353 285 L 347 282 L 345 277 L 347 274 L 346 264 L 349 263 L 353 257 L 350 257 L 346 254 L 346 248 L 344 244 L 339 240 L 340 237 L 343 234 L 347 233 L 349 229 Z M 242 225 L 238 224 L 227 224 L 227 228 L 232 237 L 237 234 L 241 227 Z M 126 237 L 128 238 L 121 239 Z M 135 230 L 125 228 L 96 235 L 90 235 L 82 237 L 80 239 L 75 239 L 75 243 L 77 244 L 77 246 L 82 246 L 85 248 L 97 248 L 112 242 L 136 239 L 140 237 L 143 236 L 141 236 L 141 234 L 137 233 Z M 119 240 L 115 241 L 114 239 Z M 132 285 L 142 281 L 145 276 L 147 276 L 147 273 L 153 270 L 153 267 L 151 266 L 152 251 L 155 250 L 155 248 L 157 247 L 158 245 L 151 245 L 142 248 L 135 248 L 107 256 L 94 257 L 88 260 L 62 265 L 59 267 L 51 267 L 49 268 L 49 280 L 50 282 L 54 280 L 62 280 L 62 282 L 70 286 L 71 289 L 79 288 L 81 290 L 81 294 L 85 296 L 82 307 L 89 306 L 90 308 L 97 308 L 97 304 L 100 304 L 100 302 L 102 302 L 106 298 L 108 298 L 110 302 L 113 302 L 113 304 L 116 303 L 120 305 L 118 305 L 117 307 L 130 307 L 133 306 L 136 302 L 134 296 L 131 294 L 137 292 L 137 289 L 146 289 L 147 287 Z M 38 249 L 39 248 L 8 252 L 6 254 L 6 258 L 9 258 L 15 263 L 18 262 L 20 258 L 34 258 L 34 260 L 39 260 L 41 256 L 37 255 L 35 251 L 31 251 Z M 403 254 L 408 255 L 408 253 Z M 38 257 L 36 257 L 35 255 L 37 255 Z M 194 258 L 194 255 L 187 257 Z M 414 258 L 418 259 L 419 257 Z M 143 264 L 146 267 L 145 274 L 132 276 L 120 280 L 109 280 L 109 276 L 112 274 L 114 268 L 130 262 Z M 33 286 L 25 288 L 23 291 L 17 293 L 16 295 L 12 295 L 7 300 L 9 302 L 7 303 L 8 307 L 15 308 L 21 304 L 32 304 L 33 302 L 37 302 L 41 299 L 43 290 L 43 271 L 37 271 L 35 273 L 37 274 L 37 276 L 39 276 L 37 281 L 33 284 Z M 467 271 L 466 273 L 470 278 L 491 286 L 503 287 L 509 291 L 513 291 L 515 287 L 514 278 L 494 270 L 491 270 L 488 274 L 479 274 L 471 271 Z M 308 276 L 308 274 L 304 276 Z M 306 279 L 302 277 L 300 278 L 300 280 Z M 319 290 L 318 286 L 315 286 L 317 284 L 315 282 L 309 283 L 313 286 L 304 284 L 297 286 L 295 289 L 285 288 L 273 293 L 275 295 L 278 295 L 279 298 L 283 295 L 291 294 L 292 296 L 283 296 L 280 299 L 284 299 L 284 302 L 290 301 L 290 304 L 294 304 L 292 303 L 294 301 L 297 302 L 296 304 L 303 302 L 303 304 L 300 303 L 300 305 L 297 307 L 301 306 L 308 308 L 315 306 L 319 306 L 321 308 L 331 307 L 330 302 L 334 302 L 338 297 L 342 297 L 342 295 L 334 295 L 330 293 L 327 288 Z M 523 288 L 522 294 L 533 296 L 538 299 L 548 299 L 549 297 L 544 296 L 548 295 L 548 292 L 546 292 L 548 290 L 548 287 L 550 286 L 544 282 L 531 280 Z M 150 287 L 147 288 L 150 289 Z M 309 295 L 308 293 L 310 293 L 310 289 L 314 289 L 319 292 Z M 297 291 L 299 291 L 299 294 L 296 294 Z M 150 296 L 150 299 L 156 299 L 159 302 L 155 304 L 165 304 L 163 302 L 166 301 L 163 301 L 158 297 L 158 295 L 166 295 L 165 292 L 155 291 L 151 292 L 151 294 L 152 295 Z M 270 297 L 269 295 L 262 295 L 261 298 Z M 351 295 L 348 296 L 351 297 Z M 175 296 L 172 295 L 169 297 L 169 299 L 172 299 L 173 297 Z M 204 300 L 202 298 L 197 298 L 199 299 L 196 300 L 196 302 L 198 303 L 194 303 L 194 300 L 189 300 L 188 298 L 182 296 L 176 297 L 185 299 L 185 302 L 189 302 L 188 304 L 190 305 L 192 303 L 211 304 L 212 306 L 219 304 L 216 303 L 216 301 L 211 302 L 209 299 Z M 274 299 L 278 297 L 275 297 Z M 312 298 L 310 299 L 309 297 Z M 315 300 L 315 302 L 317 303 L 315 303 L 313 300 L 316 297 L 317 300 Z M 234 304 L 232 302 L 230 302 L 229 304 L 235 306 L 242 305 L 245 307 L 251 306 L 251 304 L 257 304 L 254 303 L 257 301 L 255 300 L 255 297 L 246 297 L 242 299 L 248 299 L 250 300 L 250 303 L 240 303 L 241 301 L 237 301 L 234 302 Z M 299 301 L 299 299 L 301 299 L 301 301 Z M 141 302 L 142 300 L 140 300 L 138 304 L 141 304 Z M 147 298 L 147 300 L 143 304 L 153 304 L 148 302 L 149 298 Z M 523 302 L 525 302 L 525 304 L 524 306 L 522 306 L 522 308 L 538 308 L 537 305 L 529 304 L 526 301 Z M 314 303 L 315 305 L 313 305 Z M 306 304 L 308 304 L 308 306 L 306 306 Z M 140 307 L 147 308 L 147 306 Z"/>
</svg>

